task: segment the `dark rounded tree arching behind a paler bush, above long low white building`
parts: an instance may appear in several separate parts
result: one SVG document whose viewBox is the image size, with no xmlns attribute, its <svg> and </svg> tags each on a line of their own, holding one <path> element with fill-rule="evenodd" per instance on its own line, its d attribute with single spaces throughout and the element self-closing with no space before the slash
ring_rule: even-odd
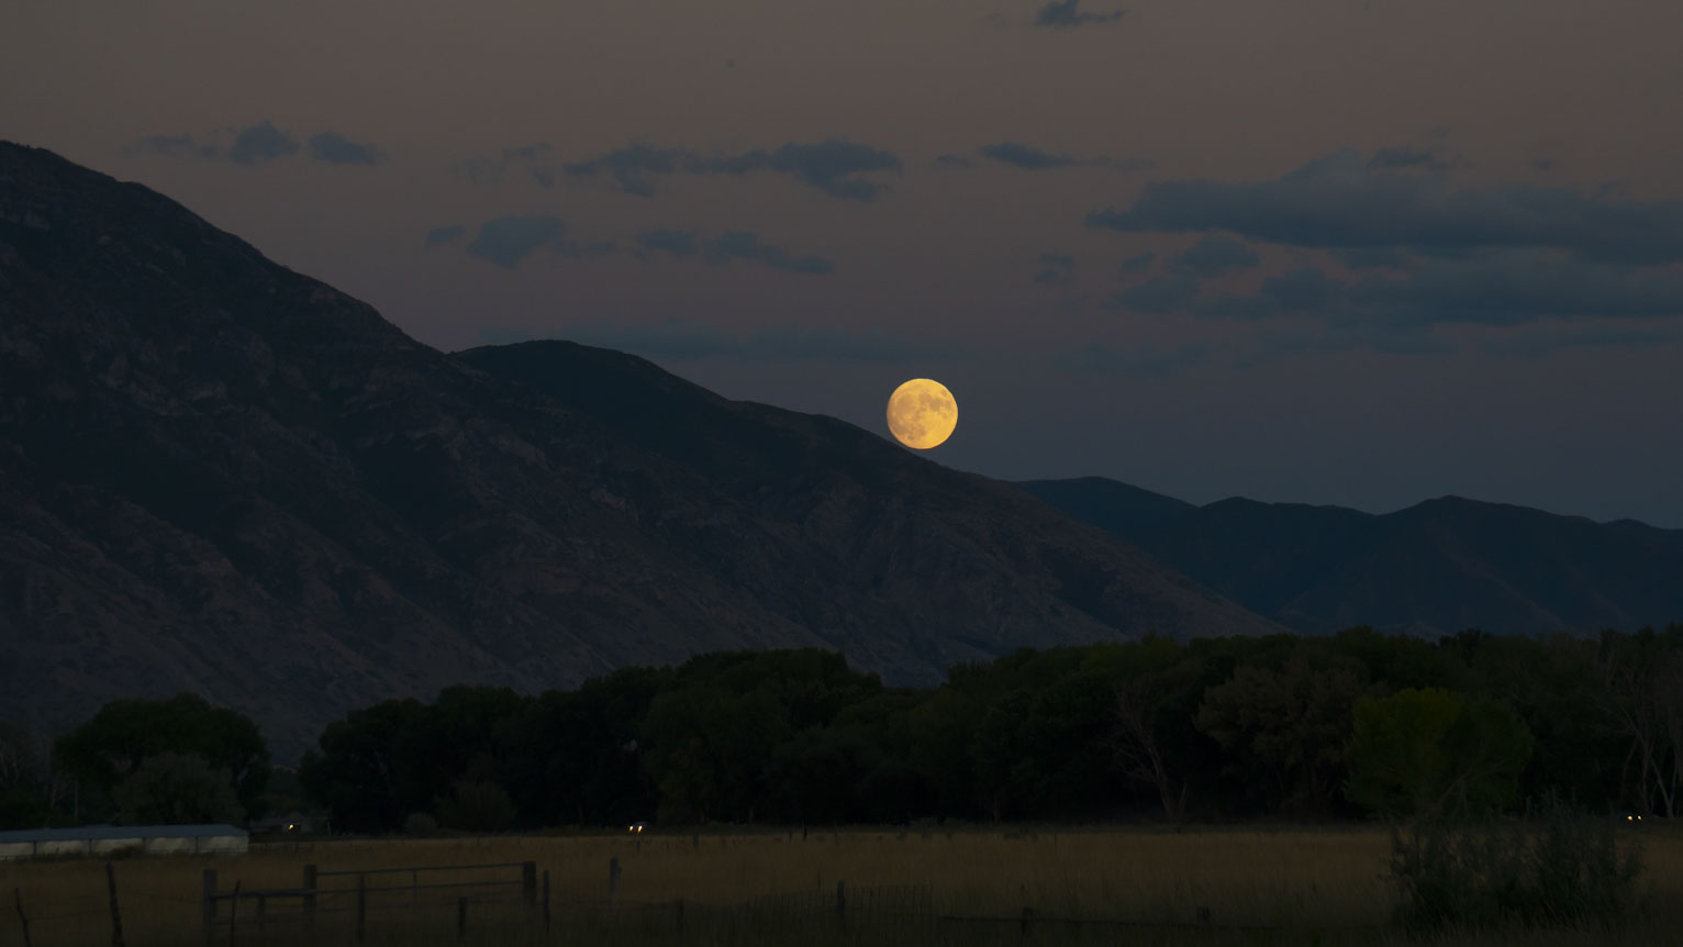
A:
<svg viewBox="0 0 1683 947">
<path fill-rule="evenodd" d="M 202 696 L 113 700 L 54 747 L 56 760 L 72 775 L 111 792 L 151 757 L 199 757 L 226 772 L 247 816 L 256 816 L 269 780 L 269 749 L 257 725 L 239 712 L 210 706 Z"/>
</svg>

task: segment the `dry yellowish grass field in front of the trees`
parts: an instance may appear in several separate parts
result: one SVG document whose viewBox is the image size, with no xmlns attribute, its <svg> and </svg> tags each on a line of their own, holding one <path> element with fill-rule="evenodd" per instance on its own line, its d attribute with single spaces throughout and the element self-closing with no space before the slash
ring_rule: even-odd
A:
<svg viewBox="0 0 1683 947">
<path fill-rule="evenodd" d="M 1644 833 L 1649 912 L 1617 932 L 1506 932 L 1436 944 L 1676 944 L 1683 930 L 1683 836 Z M 535 861 L 550 875 L 550 922 L 518 905 L 518 886 L 369 895 L 367 944 L 1409 944 L 1385 922 L 1387 838 L 1358 829 L 1281 831 L 813 831 L 759 834 L 554 836 L 438 841 L 335 841 L 254 846 L 226 858 L 114 861 L 123 935 L 131 947 L 204 944 L 202 873 L 219 888 L 296 888 L 306 863 L 321 871 L 419 865 Z M 609 860 L 621 881 L 608 903 Z M 431 873 L 426 881 L 517 880 Z M 848 907 L 835 910 L 836 883 Z M 355 886 L 355 878 L 321 885 Z M 409 875 L 367 880 L 409 885 Z M 916 910 L 884 907 L 885 886 L 927 891 Z M 13 891 L 17 895 L 13 895 Z M 904 893 L 904 891 L 900 891 Z M 471 895 L 466 937 L 459 895 Z M 764 900 L 767 895 L 784 898 Z M 875 895 L 875 900 L 873 900 Z M 0 863 L 0 947 L 24 944 L 13 900 L 30 918 L 32 947 L 111 944 L 104 861 Z M 500 898 L 502 903 L 490 903 Z M 754 898 L 761 902 L 749 907 Z M 678 907 L 682 900 L 683 907 Z M 320 898 L 348 908 L 350 897 Z M 890 910 L 894 908 L 894 910 Z M 1025 925 L 1023 908 L 1030 922 Z M 215 942 L 353 944 L 352 910 L 305 923 L 296 898 L 239 907 Z M 682 918 L 680 918 L 682 912 Z"/>
</svg>

